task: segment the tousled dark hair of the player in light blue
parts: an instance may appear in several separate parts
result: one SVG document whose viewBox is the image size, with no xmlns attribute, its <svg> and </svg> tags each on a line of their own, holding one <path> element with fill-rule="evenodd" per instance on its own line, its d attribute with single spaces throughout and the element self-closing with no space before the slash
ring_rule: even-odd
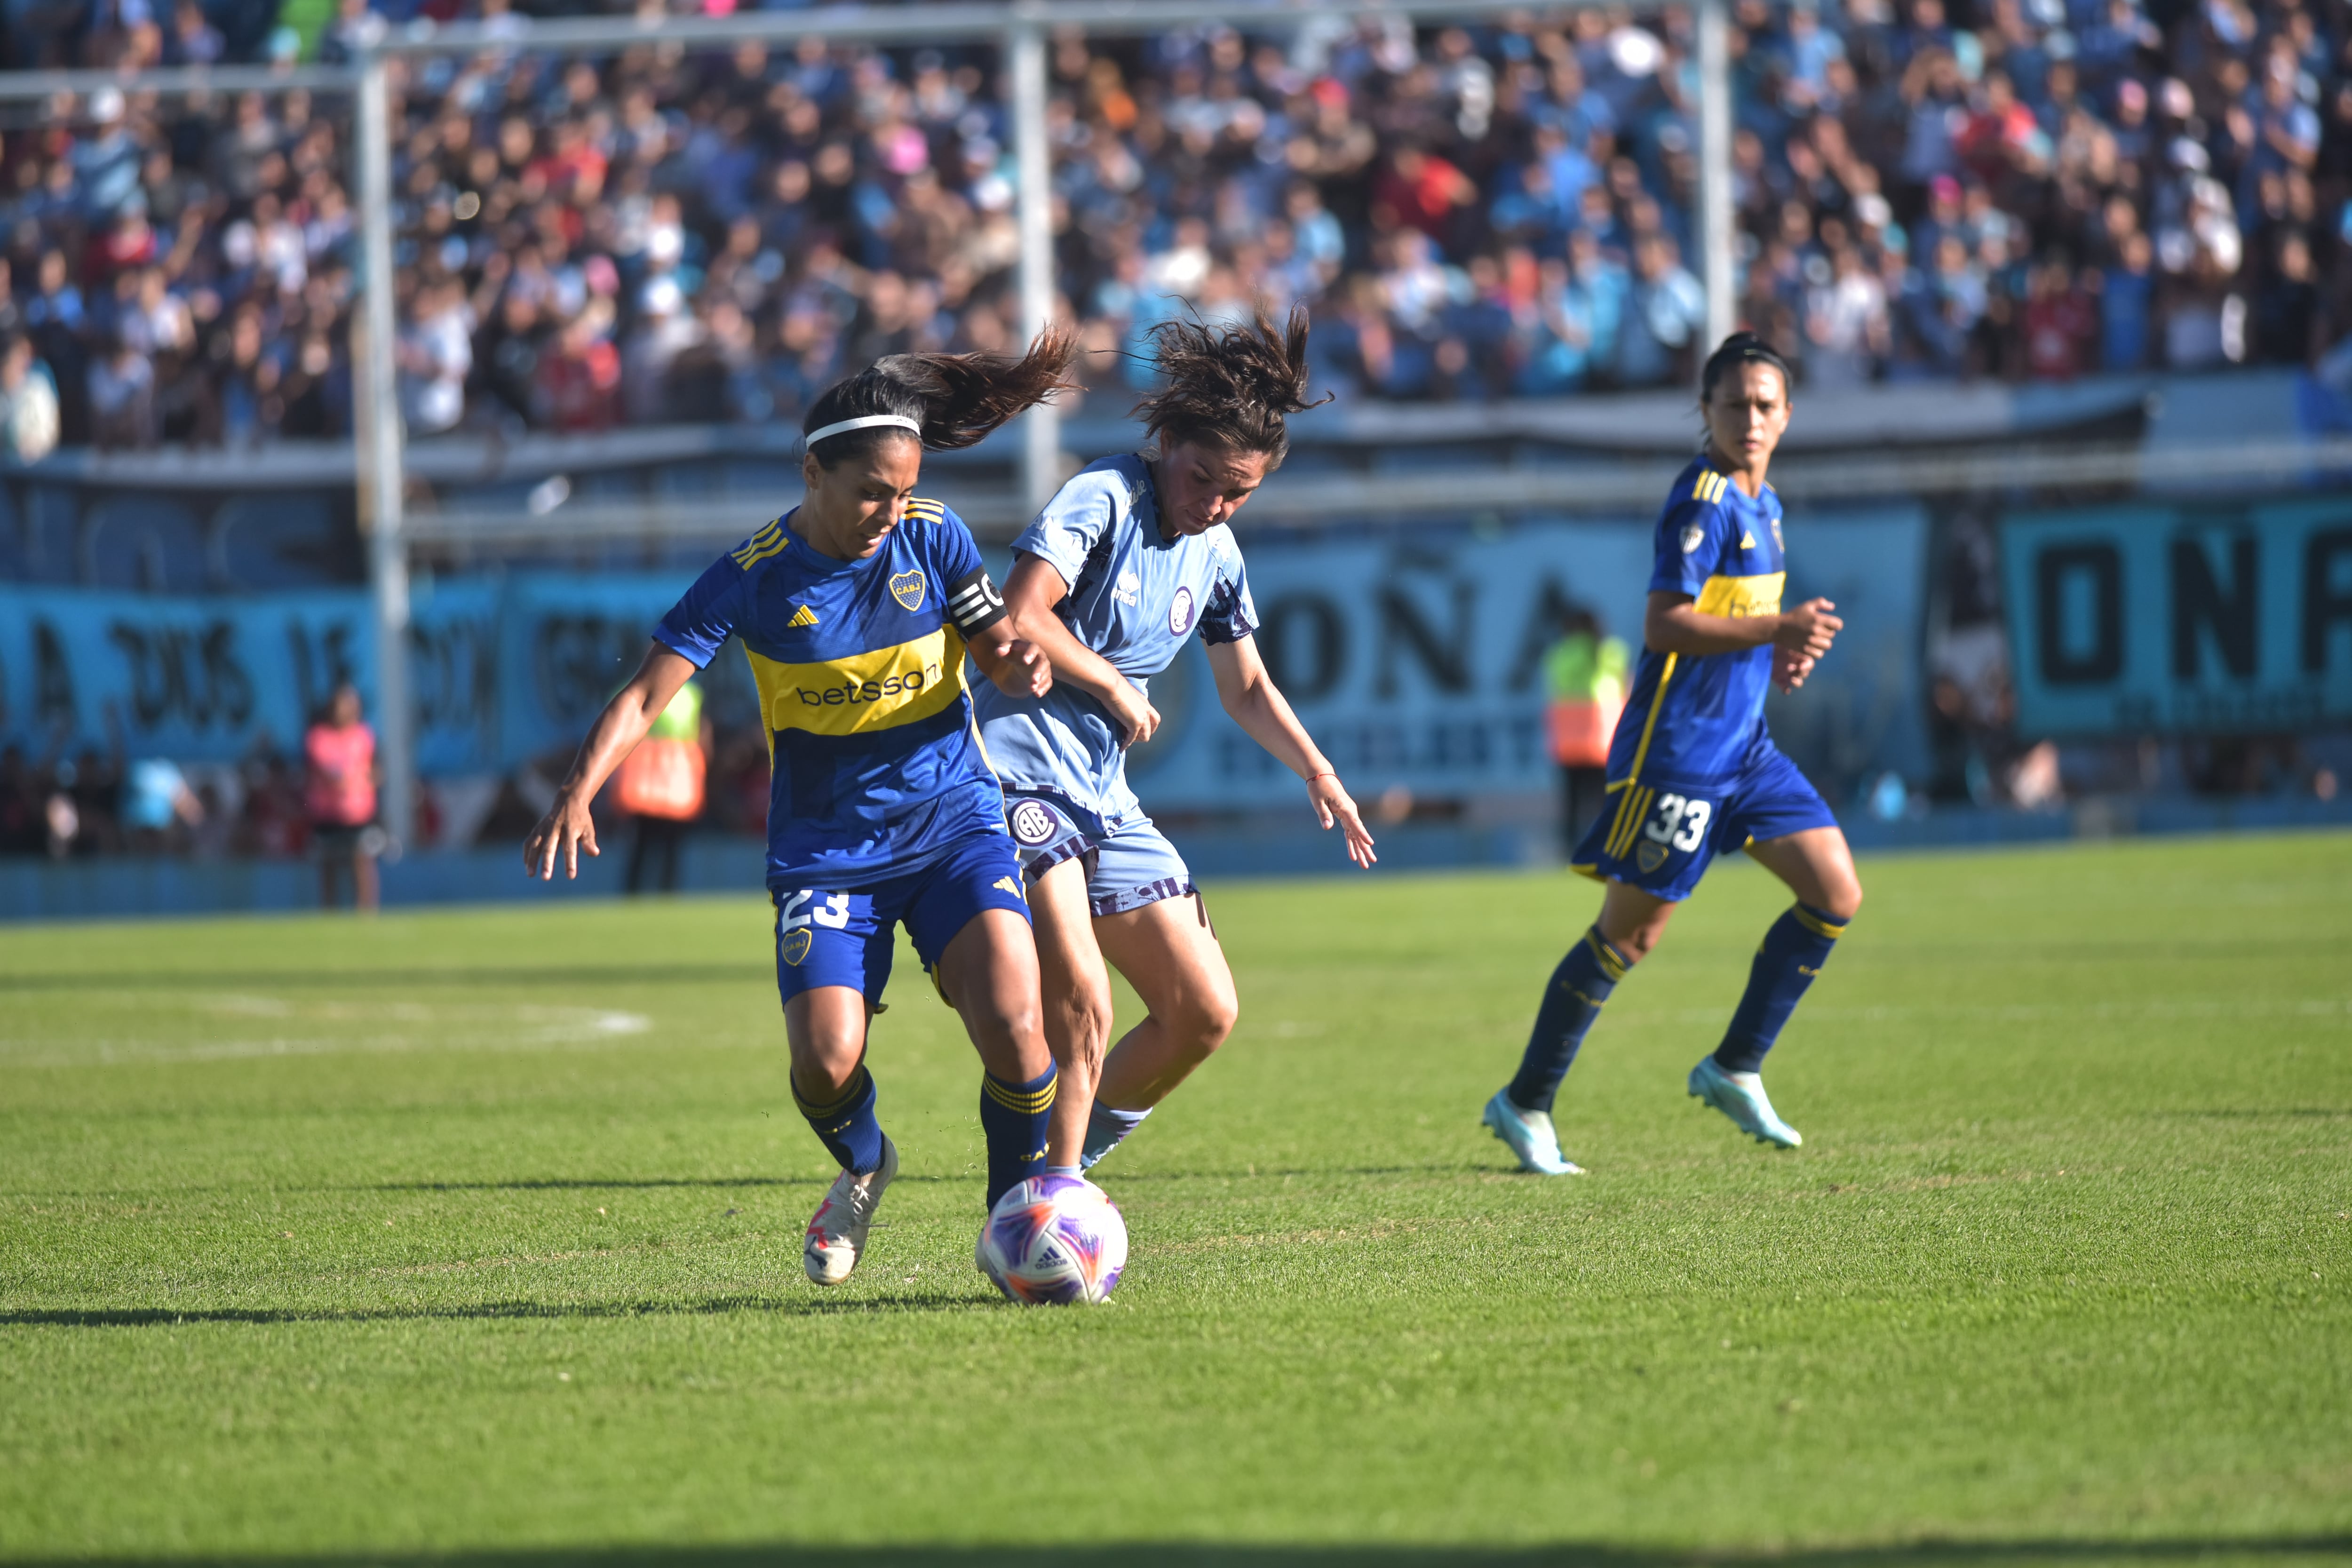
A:
<svg viewBox="0 0 2352 1568">
<path fill-rule="evenodd" d="M 1244 327 L 1160 322 L 1152 364 L 1167 378 L 1136 404 L 1136 418 L 1160 449 L 1200 442 L 1225 451 L 1263 451 L 1282 463 L 1291 449 L 1284 414 L 1331 402 L 1308 402 L 1308 313 L 1291 308 L 1287 327 L 1263 310 Z"/>
</svg>

